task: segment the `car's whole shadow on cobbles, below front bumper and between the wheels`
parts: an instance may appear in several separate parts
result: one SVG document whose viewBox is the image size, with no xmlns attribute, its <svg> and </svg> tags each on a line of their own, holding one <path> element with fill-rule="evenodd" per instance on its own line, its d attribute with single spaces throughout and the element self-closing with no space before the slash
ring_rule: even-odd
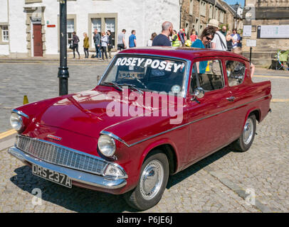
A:
<svg viewBox="0 0 289 227">
<path fill-rule="evenodd" d="M 191 165 L 182 172 L 177 173 L 169 177 L 169 182 L 167 184 L 167 189 L 182 182 L 182 180 L 194 175 L 194 173 L 207 167 L 212 162 L 219 160 L 224 157 L 232 150 L 228 147 L 219 150 L 218 152 L 209 155 L 204 160 L 196 162 L 196 164 Z M 19 167 L 14 170 L 16 176 L 11 177 L 11 182 L 16 184 L 17 187 L 22 190 L 29 192 L 31 194 L 32 190 L 35 188 L 41 189 L 42 199 L 44 201 L 49 201 L 58 206 L 62 206 L 65 209 L 76 212 L 136 212 L 125 202 L 122 195 L 113 195 L 103 192 L 96 192 L 90 189 L 83 189 L 79 187 L 73 187 L 72 189 L 65 188 L 61 185 L 49 182 L 41 177 L 36 177 L 32 175 L 31 168 L 28 166 Z M 49 205 L 48 205 L 49 206 Z"/>
</svg>

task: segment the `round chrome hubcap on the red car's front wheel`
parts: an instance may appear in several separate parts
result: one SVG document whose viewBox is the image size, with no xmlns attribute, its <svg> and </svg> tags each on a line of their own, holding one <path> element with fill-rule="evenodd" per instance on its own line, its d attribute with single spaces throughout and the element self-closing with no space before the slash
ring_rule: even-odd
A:
<svg viewBox="0 0 289 227">
<path fill-rule="evenodd" d="M 144 199 L 152 199 L 159 192 L 164 180 L 164 167 L 158 160 L 152 160 L 144 167 L 140 177 L 140 192 Z"/>
</svg>

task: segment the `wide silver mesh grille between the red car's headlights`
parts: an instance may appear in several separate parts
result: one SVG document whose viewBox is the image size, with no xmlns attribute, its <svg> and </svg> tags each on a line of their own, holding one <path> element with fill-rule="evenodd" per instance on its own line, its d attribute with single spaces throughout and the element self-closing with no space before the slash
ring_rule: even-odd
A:
<svg viewBox="0 0 289 227">
<path fill-rule="evenodd" d="M 105 160 L 100 160 L 98 157 L 91 157 L 55 143 L 22 135 L 16 136 L 16 147 L 40 160 L 97 175 L 103 175 L 108 165 Z"/>
</svg>

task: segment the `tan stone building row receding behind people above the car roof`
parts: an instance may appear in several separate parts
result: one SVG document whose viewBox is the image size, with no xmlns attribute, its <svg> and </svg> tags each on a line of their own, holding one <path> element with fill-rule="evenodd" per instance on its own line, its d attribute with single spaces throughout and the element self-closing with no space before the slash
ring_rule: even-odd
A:
<svg viewBox="0 0 289 227">
<path fill-rule="evenodd" d="M 212 18 L 219 21 L 219 26 L 228 25 L 228 29 L 233 29 L 236 11 L 221 0 L 184 0 L 181 18 L 181 27 L 190 35 L 192 28 L 201 33 Z M 241 15 L 238 15 L 238 28 L 243 28 Z"/>
</svg>

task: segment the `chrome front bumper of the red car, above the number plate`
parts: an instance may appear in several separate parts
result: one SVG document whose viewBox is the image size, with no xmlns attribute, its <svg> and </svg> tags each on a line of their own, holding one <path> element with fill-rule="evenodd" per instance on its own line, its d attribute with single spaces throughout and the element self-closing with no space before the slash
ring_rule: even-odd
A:
<svg viewBox="0 0 289 227">
<path fill-rule="evenodd" d="M 62 167 L 59 165 L 53 165 L 48 162 L 43 162 L 42 160 L 39 160 L 36 157 L 32 157 L 31 155 L 23 153 L 22 150 L 19 150 L 16 147 L 9 148 L 8 153 L 18 158 L 24 163 L 29 162 L 31 164 L 35 164 L 43 168 L 62 173 L 70 177 L 70 179 L 72 179 L 75 182 L 88 184 L 93 187 L 100 187 L 104 189 L 118 189 L 120 187 L 124 187 L 125 184 L 127 184 L 127 181 L 125 179 L 107 179 L 105 177 L 93 175 L 88 172 L 82 172 L 70 169 L 68 167 Z"/>
</svg>

